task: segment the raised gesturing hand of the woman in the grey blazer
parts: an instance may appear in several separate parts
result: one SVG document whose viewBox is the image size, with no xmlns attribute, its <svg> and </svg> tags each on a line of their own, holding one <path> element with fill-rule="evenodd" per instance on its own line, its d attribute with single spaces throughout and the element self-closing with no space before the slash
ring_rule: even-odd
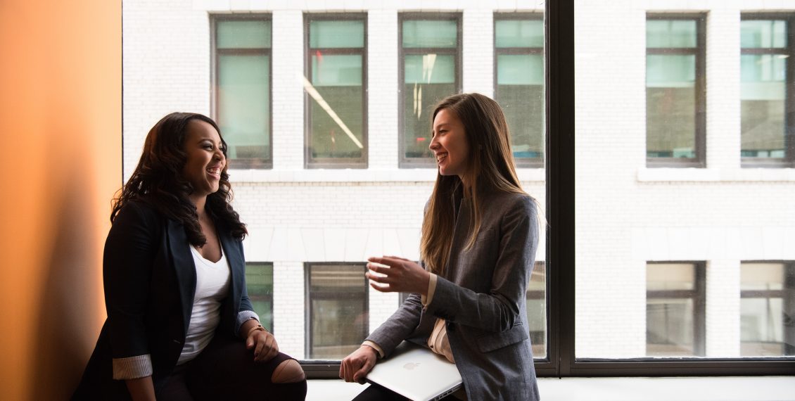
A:
<svg viewBox="0 0 795 401">
<path fill-rule="evenodd" d="M 397 256 L 372 257 L 367 259 L 370 269 L 365 277 L 374 281 L 370 286 L 381 292 L 408 292 L 422 295 L 428 294 L 428 282 L 431 274 L 417 263 Z M 387 267 L 379 266 L 386 265 Z M 378 274 L 373 274 L 373 272 Z M 376 282 L 384 285 L 378 285 Z"/>
</svg>

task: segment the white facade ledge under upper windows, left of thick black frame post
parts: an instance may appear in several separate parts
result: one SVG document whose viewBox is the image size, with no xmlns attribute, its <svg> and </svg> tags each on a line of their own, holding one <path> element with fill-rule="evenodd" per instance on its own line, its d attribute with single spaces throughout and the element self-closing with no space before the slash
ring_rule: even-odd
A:
<svg viewBox="0 0 795 401">
<path fill-rule="evenodd" d="M 517 169 L 520 181 L 544 181 L 545 169 Z M 229 169 L 231 182 L 433 182 L 436 169 Z"/>
</svg>

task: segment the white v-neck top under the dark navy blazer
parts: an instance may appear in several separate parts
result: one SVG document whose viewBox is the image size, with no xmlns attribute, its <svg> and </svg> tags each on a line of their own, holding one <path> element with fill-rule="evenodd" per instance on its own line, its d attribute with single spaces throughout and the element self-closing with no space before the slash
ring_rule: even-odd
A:
<svg viewBox="0 0 795 401">
<path fill-rule="evenodd" d="M 196 265 L 196 294 L 193 296 L 188 335 L 176 364 L 184 364 L 210 344 L 215 328 L 221 320 L 221 301 L 229 292 L 229 263 L 221 251 L 221 259 L 211 262 L 204 259 L 196 247 L 191 248 L 193 264 Z"/>
</svg>

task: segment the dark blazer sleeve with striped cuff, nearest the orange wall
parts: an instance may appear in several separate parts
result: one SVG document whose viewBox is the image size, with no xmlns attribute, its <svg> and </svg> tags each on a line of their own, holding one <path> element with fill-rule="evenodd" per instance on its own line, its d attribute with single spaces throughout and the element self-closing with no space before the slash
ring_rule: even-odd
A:
<svg viewBox="0 0 795 401">
<path fill-rule="evenodd" d="M 103 282 L 113 356 L 113 378 L 152 375 L 145 327 L 157 215 L 128 203 L 118 212 L 105 242 Z"/>
</svg>

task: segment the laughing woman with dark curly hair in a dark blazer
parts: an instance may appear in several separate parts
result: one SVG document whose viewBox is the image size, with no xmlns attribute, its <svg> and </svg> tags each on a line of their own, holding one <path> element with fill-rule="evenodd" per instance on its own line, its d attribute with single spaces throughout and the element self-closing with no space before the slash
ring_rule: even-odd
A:
<svg viewBox="0 0 795 401">
<path fill-rule="evenodd" d="M 107 320 L 73 399 L 304 399 L 246 293 L 246 226 L 231 207 L 226 142 L 172 113 L 114 200 L 103 256 Z"/>
</svg>

